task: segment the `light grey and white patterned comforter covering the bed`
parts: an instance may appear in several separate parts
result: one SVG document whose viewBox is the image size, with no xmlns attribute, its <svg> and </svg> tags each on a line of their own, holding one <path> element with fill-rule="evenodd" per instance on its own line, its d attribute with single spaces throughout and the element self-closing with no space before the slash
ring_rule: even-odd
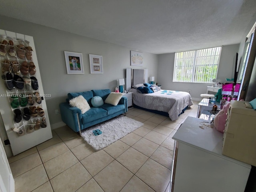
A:
<svg viewBox="0 0 256 192">
<path fill-rule="evenodd" d="M 178 115 L 188 106 L 193 105 L 192 98 L 188 92 L 160 90 L 158 92 L 142 94 L 137 89 L 130 89 L 133 92 L 133 103 L 137 106 L 168 112 L 172 121 L 178 119 Z"/>
</svg>

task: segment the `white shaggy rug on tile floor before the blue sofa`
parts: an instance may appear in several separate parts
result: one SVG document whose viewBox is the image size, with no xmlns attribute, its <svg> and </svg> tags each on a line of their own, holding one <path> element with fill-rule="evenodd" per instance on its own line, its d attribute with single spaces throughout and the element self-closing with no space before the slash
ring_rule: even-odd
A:
<svg viewBox="0 0 256 192">
<path fill-rule="evenodd" d="M 82 138 L 94 150 L 98 151 L 126 136 L 128 133 L 133 132 L 142 125 L 144 125 L 142 122 L 121 115 L 86 128 L 82 131 Z M 96 129 L 101 130 L 102 134 L 95 136 L 92 131 Z"/>
</svg>

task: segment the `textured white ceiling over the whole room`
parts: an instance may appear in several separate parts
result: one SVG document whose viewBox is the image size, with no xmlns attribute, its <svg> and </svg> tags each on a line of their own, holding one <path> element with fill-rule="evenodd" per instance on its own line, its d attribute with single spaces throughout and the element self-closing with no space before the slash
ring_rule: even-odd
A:
<svg viewBox="0 0 256 192">
<path fill-rule="evenodd" d="M 162 54 L 240 43 L 256 0 L 0 0 L 0 14 Z"/>
</svg>

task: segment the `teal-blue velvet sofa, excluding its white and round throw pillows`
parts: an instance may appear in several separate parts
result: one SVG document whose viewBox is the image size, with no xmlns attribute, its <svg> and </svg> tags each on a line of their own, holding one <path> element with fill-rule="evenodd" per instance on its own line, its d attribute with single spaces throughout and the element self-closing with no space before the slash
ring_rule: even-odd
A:
<svg viewBox="0 0 256 192">
<path fill-rule="evenodd" d="M 109 120 L 120 114 L 124 114 L 128 111 L 127 98 L 122 97 L 117 106 L 104 103 L 100 107 L 93 107 L 91 100 L 94 96 L 100 96 L 103 101 L 106 100 L 110 94 L 110 89 L 103 90 L 91 90 L 79 93 L 68 93 L 66 102 L 60 103 L 60 114 L 62 121 L 67 124 L 74 132 L 80 132 L 81 130 L 98 123 Z M 77 96 L 82 95 L 90 105 L 90 110 L 82 114 L 81 110 L 77 107 L 71 107 L 69 100 Z"/>
</svg>

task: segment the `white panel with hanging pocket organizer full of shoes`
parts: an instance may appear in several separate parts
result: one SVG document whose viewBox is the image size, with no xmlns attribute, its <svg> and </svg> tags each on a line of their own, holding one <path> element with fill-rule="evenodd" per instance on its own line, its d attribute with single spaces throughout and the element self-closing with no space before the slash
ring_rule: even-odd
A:
<svg viewBox="0 0 256 192">
<path fill-rule="evenodd" d="M 52 138 L 34 40 L 0 30 L 0 112 L 13 155 Z"/>
</svg>

